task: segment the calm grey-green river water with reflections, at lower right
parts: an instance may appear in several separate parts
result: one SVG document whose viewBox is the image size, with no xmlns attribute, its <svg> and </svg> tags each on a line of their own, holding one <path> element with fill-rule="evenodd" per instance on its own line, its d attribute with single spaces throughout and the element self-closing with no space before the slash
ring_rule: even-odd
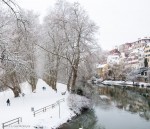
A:
<svg viewBox="0 0 150 129">
<path fill-rule="evenodd" d="M 150 129 L 150 108 L 147 99 L 120 88 L 100 89 L 101 99 L 95 96 L 93 110 L 90 110 L 62 129 Z"/>
</svg>

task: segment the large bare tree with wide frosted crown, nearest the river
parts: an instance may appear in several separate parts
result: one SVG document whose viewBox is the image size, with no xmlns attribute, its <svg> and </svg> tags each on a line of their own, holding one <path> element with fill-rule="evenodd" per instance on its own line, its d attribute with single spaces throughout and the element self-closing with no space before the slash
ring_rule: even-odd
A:
<svg viewBox="0 0 150 129">
<path fill-rule="evenodd" d="M 49 26 L 53 27 L 51 30 L 55 28 L 55 31 L 50 33 L 51 43 L 57 42 L 57 44 L 63 44 L 63 47 L 65 47 L 63 52 L 58 54 L 53 51 L 53 53 L 57 53 L 58 56 L 63 55 L 67 64 L 69 63 L 67 85 L 68 90 L 69 87 L 73 90 L 78 77 L 81 57 L 94 43 L 97 26 L 88 18 L 88 15 L 78 3 L 70 4 L 65 1 L 58 1 L 52 13 L 49 15 L 49 21 L 51 21 Z"/>
</svg>

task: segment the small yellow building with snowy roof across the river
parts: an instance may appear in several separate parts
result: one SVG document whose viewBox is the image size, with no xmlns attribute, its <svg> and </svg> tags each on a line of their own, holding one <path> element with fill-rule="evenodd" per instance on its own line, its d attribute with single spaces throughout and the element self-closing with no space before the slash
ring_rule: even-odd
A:
<svg viewBox="0 0 150 129">
<path fill-rule="evenodd" d="M 97 66 L 97 74 L 100 78 L 105 79 L 107 77 L 108 64 L 99 64 Z"/>
</svg>

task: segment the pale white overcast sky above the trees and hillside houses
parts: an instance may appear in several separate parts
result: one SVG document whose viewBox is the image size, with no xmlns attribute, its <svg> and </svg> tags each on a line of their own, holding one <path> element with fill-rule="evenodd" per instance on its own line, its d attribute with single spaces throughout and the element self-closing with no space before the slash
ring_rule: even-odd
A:
<svg viewBox="0 0 150 129">
<path fill-rule="evenodd" d="M 19 0 L 19 5 L 46 15 L 56 0 Z M 104 50 L 150 37 L 150 0 L 67 0 L 78 1 L 100 27 L 99 44 Z"/>
</svg>

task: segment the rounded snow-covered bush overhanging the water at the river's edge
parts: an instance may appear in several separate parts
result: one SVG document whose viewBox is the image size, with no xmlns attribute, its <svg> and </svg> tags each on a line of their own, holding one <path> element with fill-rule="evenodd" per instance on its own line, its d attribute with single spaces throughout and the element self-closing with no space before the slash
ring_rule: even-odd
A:
<svg viewBox="0 0 150 129">
<path fill-rule="evenodd" d="M 83 108 L 91 108 L 92 104 L 89 99 L 77 94 L 70 94 L 68 96 L 68 106 L 76 114 L 80 114 Z"/>
</svg>

